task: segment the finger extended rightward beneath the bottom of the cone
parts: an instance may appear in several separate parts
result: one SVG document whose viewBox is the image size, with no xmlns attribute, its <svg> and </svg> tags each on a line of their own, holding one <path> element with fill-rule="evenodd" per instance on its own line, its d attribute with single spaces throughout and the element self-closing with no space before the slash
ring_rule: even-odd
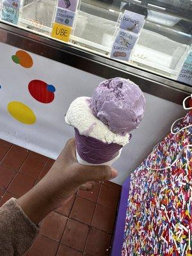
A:
<svg viewBox="0 0 192 256">
<path fill-rule="evenodd" d="M 117 175 L 117 171 L 107 165 L 84 165 L 81 169 L 81 178 L 83 179 L 83 182 L 111 180 Z"/>
</svg>

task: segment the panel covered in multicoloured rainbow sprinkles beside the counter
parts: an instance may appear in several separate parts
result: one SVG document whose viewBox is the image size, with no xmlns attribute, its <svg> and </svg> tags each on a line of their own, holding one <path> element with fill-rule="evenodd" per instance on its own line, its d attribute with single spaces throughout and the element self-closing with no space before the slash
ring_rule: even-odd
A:
<svg viewBox="0 0 192 256">
<path fill-rule="evenodd" d="M 179 129 L 192 124 L 188 113 Z M 192 127 L 168 134 L 132 173 L 122 256 L 192 256 Z M 171 168 L 167 168 L 183 154 Z M 150 168 L 147 168 L 150 166 Z"/>
</svg>

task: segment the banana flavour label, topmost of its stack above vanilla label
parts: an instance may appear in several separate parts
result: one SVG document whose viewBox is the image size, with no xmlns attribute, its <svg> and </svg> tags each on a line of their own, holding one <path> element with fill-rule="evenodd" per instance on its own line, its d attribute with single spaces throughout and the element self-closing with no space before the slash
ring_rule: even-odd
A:
<svg viewBox="0 0 192 256">
<path fill-rule="evenodd" d="M 120 28 L 138 34 L 143 26 L 144 18 L 145 16 L 141 14 L 125 10 Z"/>
</svg>

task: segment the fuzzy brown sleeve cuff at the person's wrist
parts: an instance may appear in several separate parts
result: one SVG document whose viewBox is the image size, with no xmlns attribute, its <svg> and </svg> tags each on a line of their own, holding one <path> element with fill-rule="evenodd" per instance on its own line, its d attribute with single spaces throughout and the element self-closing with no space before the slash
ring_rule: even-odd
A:
<svg viewBox="0 0 192 256">
<path fill-rule="evenodd" d="M 0 208 L 0 255 L 23 255 L 38 232 L 39 227 L 26 216 L 15 198 Z"/>
</svg>

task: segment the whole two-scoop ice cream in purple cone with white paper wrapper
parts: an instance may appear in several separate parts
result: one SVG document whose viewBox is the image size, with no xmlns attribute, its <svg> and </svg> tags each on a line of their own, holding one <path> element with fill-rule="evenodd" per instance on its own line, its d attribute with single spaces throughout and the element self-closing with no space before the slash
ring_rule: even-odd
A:
<svg viewBox="0 0 192 256">
<path fill-rule="evenodd" d="M 77 160 L 81 164 L 111 165 L 143 118 L 145 97 L 138 85 L 123 78 L 104 81 L 92 98 L 79 97 L 65 116 L 75 128 Z"/>
</svg>

